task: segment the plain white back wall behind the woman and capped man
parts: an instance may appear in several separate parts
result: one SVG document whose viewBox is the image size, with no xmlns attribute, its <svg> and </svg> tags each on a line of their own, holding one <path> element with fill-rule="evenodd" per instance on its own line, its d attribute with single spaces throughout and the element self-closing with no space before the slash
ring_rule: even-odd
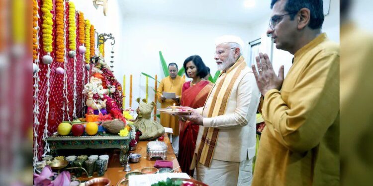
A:
<svg viewBox="0 0 373 186">
<path fill-rule="evenodd" d="M 132 107 L 136 108 L 134 100 L 137 97 L 145 98 L 145 76 L 141 72 L 158 79 L 164 77 L 159 59 L 159 51 L 167 63 L 176 62 L 182 67 L 185 59 L 191 55 L 199 55 L 203 62 L 210 67 L 213 75 L 216 68 L 214 58 L 216 37 L 226 34 L 237 35 L 246 43 L 248 48 L 249 29 L 235 25 L 216 25 L 195 23 L 188 21 L 154 20 L 150 18 L 127 17 L 124 19 L 122 32 L 123 45 L 122 64 L 116 66 L 116 76 L 126 75 L 126 107 L 129 104 L 129 75 L 133 74 L 133 101 Z M 244 50 L 244 57 L 248 57 Z M 149 98 L 154 100 L 154 80 L 149 79 Z"/>
</svg>

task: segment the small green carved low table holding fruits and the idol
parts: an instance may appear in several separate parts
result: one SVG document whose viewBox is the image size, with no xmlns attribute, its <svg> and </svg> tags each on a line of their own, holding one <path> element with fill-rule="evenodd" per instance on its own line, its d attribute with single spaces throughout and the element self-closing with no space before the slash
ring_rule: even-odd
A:
<svg viewBox="0 0 373 186">
<path fill-rule="evenodd" d="M 122 165 L 127 162 L 127 152 L 129 149 L 129 136 L 119 136 L 113 134 L 93 135 L 93 136 L 61 136 L 54 134 L 47 138 L 52 156 L 58 156 L 59 150 L 69 149 L 108 149 L 120 150 L 120 162 Z"/>
</svg>

